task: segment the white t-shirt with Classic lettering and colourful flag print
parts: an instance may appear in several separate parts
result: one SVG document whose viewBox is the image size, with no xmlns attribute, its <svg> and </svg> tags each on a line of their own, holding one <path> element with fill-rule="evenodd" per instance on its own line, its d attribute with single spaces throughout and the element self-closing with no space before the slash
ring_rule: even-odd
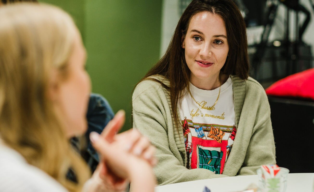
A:
<svg viewBox="0 0 314 192">
<path fill-rule="evenodd" d="M 192 83 L 190 91 L 195 100 L 187 93 L 179 101 L 188 168 L 221 174 L 236 135 L 231 77 L 221 85 L 220 94 L 219 88 L 203 90 Z"/>
</svg>

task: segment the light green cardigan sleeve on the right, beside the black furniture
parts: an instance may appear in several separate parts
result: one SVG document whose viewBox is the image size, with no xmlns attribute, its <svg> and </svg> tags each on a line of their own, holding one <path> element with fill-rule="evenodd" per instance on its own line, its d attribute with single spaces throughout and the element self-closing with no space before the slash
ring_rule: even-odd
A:
<svg viewBox="0 0 314 192">
<path fill-rule="evenodd" d="M 252 129 L 243 165 L 238 175 L 254 175 L 261 165 L 276 164 L 275 142 L 272 123 L 270 120 L 270 107 L 267 95 L 263 89 L 259 89 L 259 100 L 256 119 Z"/>
</svg>

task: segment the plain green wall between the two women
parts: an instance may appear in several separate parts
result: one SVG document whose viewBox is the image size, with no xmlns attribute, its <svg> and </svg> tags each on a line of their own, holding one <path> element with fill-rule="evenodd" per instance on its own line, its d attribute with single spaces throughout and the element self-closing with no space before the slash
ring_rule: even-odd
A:
<svg viewBox="0 0 314 192">
<path fill-rule="evenodd" d="M 159 59 L 162 0 L 41 0 L 70 13 L 88 52 L 92 91 L 131 125 L 131 93 Z"/>
</svg>

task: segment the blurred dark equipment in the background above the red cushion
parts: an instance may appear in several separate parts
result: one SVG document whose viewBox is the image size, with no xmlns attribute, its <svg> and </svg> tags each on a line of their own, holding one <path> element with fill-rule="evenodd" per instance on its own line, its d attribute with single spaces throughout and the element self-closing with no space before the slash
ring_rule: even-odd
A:
<svg viewBox="0 0 314 192">
<path fill-rule="evenodd" d="M 250 10 L 253 13 L 255 12 L 255 9 L 252 9 L 252 7 L 249 7 L 249 13 L 246 18 L 248 27 L 255 24 L 263 25 L 260 42 L 249 46 L 249 57 L 252 65 L 250 75 L 260 83 L 263 83 L 263 81 L 274 82 L 290 74 L 311 68 L 313 60 L 311 46 L 302 40 L 311 20 L 310 11 L 300 4 L 299 0 L 268 0 L 259 2 L 261 5 L 258 5 L 258 7 L 262 10 L 259 11 L 258 15 L 262 18 L 250 15 Z M 311 0 L 310 3 L 313 6 Z M 274 27 L 280 4 L 283 4 L 286 9 L 284 21 L 282 22 L 284 36 L 281 39 L 270 41 L 269 36 Z M 256 6 L 252 3 L 248 3 L 248 5 Z M 291 11 L 295 12 L 293 21 L 290 19 Z M 299 19 L 300 13 L 305 16 L 302 24 L 300 24 Z M 293 24 L 294 31 L 291 31 L 291 24 Z M 290 33 L 293 33 L 292 39 L 290 38 Z"/>
</svg>

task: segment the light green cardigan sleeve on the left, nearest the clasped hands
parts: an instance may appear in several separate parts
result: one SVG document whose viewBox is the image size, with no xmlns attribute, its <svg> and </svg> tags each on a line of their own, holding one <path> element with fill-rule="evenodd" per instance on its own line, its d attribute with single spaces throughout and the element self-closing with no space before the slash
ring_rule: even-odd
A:
<svg viewBox="0 0 314 192">
<path fill-rule="evenodd" d="M 133 93 L 133 127 L 156 147 L 154 173 L 159 185 L 226 177 L 207 169 L 187 169 L 173 139 L 172 118 L 160 83 L 143 81 Z M 167 115 L 169 114 L 169 115 Z M 183 138 L 182 138 L 183 139 Z"/>
</svg>

